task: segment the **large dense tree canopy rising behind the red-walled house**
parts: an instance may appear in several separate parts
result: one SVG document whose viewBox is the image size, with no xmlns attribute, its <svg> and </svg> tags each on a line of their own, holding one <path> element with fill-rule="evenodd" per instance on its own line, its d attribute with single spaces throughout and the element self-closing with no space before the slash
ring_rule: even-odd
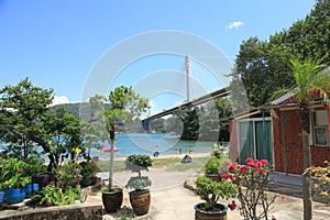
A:
<svg viewBox="0 0 330 220">
<path fill-rule="evenodd" d="M 290 59 L 309 58 L 330 61 L 330 1 L 318 0 L 315 9 L 304 20 L 288 30 L 271 35 L 268 41 L 256 36 L 242 42 L 235 59 L 237 74 L 232 87 L 242 80 L 249 105 L 262 106 L 279 88 L 289 88 L 295 81 Z M 233 92 L 235 92 L 233 90 Z"/>
</svg>

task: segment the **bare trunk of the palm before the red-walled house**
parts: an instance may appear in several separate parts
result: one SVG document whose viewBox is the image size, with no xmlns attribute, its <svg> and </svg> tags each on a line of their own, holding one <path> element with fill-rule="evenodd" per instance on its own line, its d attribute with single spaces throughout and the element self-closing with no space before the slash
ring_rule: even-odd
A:
<svg viewBox="0 0 330 220">
<path fill-rule="evenodd" d="M 310 110 L 307 103 L 300 103 L 300 125 L 301 125 L 301 140 L 304 152 L 304 175 L 302 175 L 302 196 L 304 196 L 304 220 L 311 220 L 311 189 L 310 189 L 310 146 L 309 146 L 309 132 L 310 132 Z"/>
</svg>

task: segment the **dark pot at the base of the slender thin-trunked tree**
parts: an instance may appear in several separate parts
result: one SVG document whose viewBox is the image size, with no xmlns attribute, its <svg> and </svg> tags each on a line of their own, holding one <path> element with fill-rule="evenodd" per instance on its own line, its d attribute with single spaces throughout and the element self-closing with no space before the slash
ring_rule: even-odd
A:
<svg viewBox="0 0 330 220">
<path fill-rule="evenodd" d="M 102 190 L 102 201 L 107 212 L 116 212 L 122 205 L 122 188 L 118 188 L 114 191 Z"/>
</svg>

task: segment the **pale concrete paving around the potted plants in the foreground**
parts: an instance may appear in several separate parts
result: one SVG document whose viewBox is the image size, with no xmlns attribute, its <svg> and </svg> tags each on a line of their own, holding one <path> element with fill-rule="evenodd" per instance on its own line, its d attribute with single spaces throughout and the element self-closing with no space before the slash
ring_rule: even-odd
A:
<svg viewBox="0 0 330 220">
<path fill-rule="evenodd" d="M 114 174 L 114 182 L 119 186 L 124 186 L 128 179 L 134 174 L 121 172 Z M 191 220 L 195 219 L 194 206 L 200 202 L 200 198 L 190 189 L 193 187 L 196 174 L 189 172 L 166 172 L 151 169 L 147 175 L 152 180 L 151 187 L 151 208 L 150 212 L 143 217 L 133 219 L 139 220 Z M 107 174 L 100 174 L 103 178 Z M 283 177 L 282 177 L 283 178 Z M 284 176 L 285 178 L 285 176 Z M 284 200 L 276 199 L 273 209 L 270 211 L 270 217 L 274 216 L 277 220 L 300 220 L 302 219 L 302 199 L 300 198 L 299 189 L 280 185 L 280 179 L 277 177 L 277 184 L 272 186 L 273 190 L 284 194 Z M 292 179 L 288 179 L 292 182 Z M 186 184 L 185 184 L 186 183 Z M 185 187 L 185 186 L 186 187 Z M 188 187 L 188 188 L 187 188 Z M 230 200 L 220 200 L 219 202 L 228 205 Z M 235 199 L 237 200 L 237 199 Z M 87 202 L 102 202 L 101 193 L 90 195 Z M 238 202 L 238 200 L 237 200 Z M 326 204 L 312 202 L 314 220 L 329 220 L 330 206 Z M 128 198 L 128 189 L 124 189 L 124 201 L 122 209 L 117 213 L 105 213 L 103 219 L 131 219 L 132 209 Z M 229 210 L 228 219 L 241 220 L 242 217 L 238 210 Z"/>
</svg>

